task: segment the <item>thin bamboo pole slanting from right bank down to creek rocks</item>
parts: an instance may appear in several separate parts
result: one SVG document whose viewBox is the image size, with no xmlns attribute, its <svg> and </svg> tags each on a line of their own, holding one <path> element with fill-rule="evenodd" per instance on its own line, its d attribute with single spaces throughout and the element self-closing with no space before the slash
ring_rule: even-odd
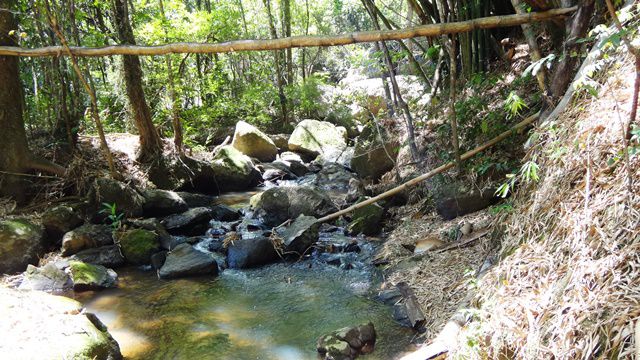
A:
<svg viewBox="0 0 640 360">
<path fill-rule="evenodd" d="M 539 117 L 540 117 L 540 113 L 537 113 L 535 115 L 529 116 L 528 118 L 526 118 L 526 119 L 522 120 L 521 122 L 517 123 L 511 129 L 503 132 L 502 134 L 496 136 L 495 138 L 491 139 L 490 141 L 484 143 L 483 145 L 481 145 L 481 146 L 479 146 L 479 147 L 477 147 L 477 148 L 475 148 L 473 150 L 467 151 L 466 153 L 462 154 L 462 156 L 460 156 L 460 160 L 467 160 L 467 159 L 477 155 L 478 153 L 485 151 L 486 149 L 494 146 L 495 144 L 499 143 L 500 141 L 508 138 L 513 133 L 524 129 L 526 126 L 528 126 L 529 124 L 531 124 L 534 121 L 536 121 Z M 373 204 L 373 203 L 375 203 L 377 201 L 385 199 L 385 198 L 387 198 L 387 197 L 389 197 L 391 195 L 395 195 L 395 194 L 397 194 L 397 193 L 399 193 L 401 191 L 404 191 L 404 190 L 406 190 L 406 189 L 408 189 L 408 188 L 410 188 L 410 187 L 412 187 L 414 185 L 417 185 L 418 183 L 421 183 L 421 182 L 423 182 L 423 181 L 425 181 L 425 180 L 427 180 L 429 178 L 432 178 L 435 175 L 438 175 L 438 174 L 440 174 L 442 172 L 445 172 L 445 171 L 447 171 L 447 170 L 449 170 L 449 169 L 451 169 L 451 168 L 453 168 L 455 166 L 456 166 L 455 162 L 449 162 L 447 164 L 441 165 L 441 166 L 429 171 L 426 174 L 420 175 L 417 178 L 413 178 L 413 179 L 407 181 L 406 183 L 404 183 L 402 185 L 399 185 L 399 186 L 396 186 L 396 187 L 394 187 L 393 189 L 391 189 L 389 191 L 385 191 L 384 193 L 382 193 L 382 194 L 380 194 L 378 196 L 374 196 L 371 199 L 368 199 L 368 200 L 359 202 L 357 204 L 351 205 L 351 206 L 349 206 L 348 208 L 346 208 L 344 210 L 340 210 L 340 211 L 337 211 L 337 212 L 335 212 L 333 214 L 329 214 L 329 215 L 327 215 L 325 217 L 322 217 L 322 218 L 318 219 L 318 222 L 319 223 L 323 223 L 323 222 L 327 222 L 329 220 L 333 220 L 333 219 L 339 218 L 340 216 L 346 215 L 346 214 L 352 212 L 353 210 L 360 209 L 362 207 L 365 207 L 367 205 L 370 205 L 370 204 Z"/>
</svg>

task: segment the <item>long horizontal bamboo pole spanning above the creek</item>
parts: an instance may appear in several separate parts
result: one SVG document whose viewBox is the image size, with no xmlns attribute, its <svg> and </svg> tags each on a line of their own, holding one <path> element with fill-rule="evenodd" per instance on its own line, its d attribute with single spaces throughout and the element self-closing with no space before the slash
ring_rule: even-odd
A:
<svg viewBox="0 0 640 360">
<path fill-rule="evenodd" d="M 167 55 L 167 54 L 213 54 L 236 51 L 281 50 L 298 47 L 340 46 L 365 42 L 403 40 L 416 37 L 436 37 L 478 29 L 519 26 L 532 22 L 562 17 L 576 11 L 578 7 L 553 9 L 544 12 L 490 16 L 467 21 L 416 26 L 402 30 L 362 31 L 335 36 L 293 36 L 270 40 L 234 40 L 223 43 L 171 43 L 157 46 L 113 45 L 99 48 L 46 46 L 23 49 L 15 46 L 0 46 L 0 55 L 22 57 L 44 56 L 111 56 L 111 55 Z"/>
</svg>

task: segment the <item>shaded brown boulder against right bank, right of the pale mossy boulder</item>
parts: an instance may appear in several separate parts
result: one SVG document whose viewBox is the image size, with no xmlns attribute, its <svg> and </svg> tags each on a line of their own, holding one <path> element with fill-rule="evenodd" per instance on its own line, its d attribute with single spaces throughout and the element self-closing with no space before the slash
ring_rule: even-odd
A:
<svg viewBox="0 0 640 360">
<path fill-rule="evenodd" d="M 393 169 L 398 157 L 398 144 L 380 140 L 373 125 L 368 125 L 356 141 L 350 167 L 361 179 L 379 180 L 382 175 Z"/>
</svg>

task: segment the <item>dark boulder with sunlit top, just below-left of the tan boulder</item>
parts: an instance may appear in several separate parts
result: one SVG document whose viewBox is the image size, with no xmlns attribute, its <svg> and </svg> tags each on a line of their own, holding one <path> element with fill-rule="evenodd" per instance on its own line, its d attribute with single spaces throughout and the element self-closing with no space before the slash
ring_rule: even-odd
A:
<svg viewBox="0 0 640 360">
<path fill-rule="evenodd" d="M 260 181 L 260 173 L 251 159 L 231 146 L 221 147 L 211 166 L 218 192 L 247 190 Z"/>
</svg>

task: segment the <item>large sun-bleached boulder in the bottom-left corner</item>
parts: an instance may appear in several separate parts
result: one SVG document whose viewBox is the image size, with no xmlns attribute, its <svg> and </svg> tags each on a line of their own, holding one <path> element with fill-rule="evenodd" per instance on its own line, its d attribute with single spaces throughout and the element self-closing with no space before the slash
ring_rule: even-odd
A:
<svg viewBox="0 0 640 360">
<path fill-rule="evenodd" d="M 40 291 L 0 287 L 0 348 L 11 359 L 122 359 L 107 328 L 82 305 Z"/>
</svg>

